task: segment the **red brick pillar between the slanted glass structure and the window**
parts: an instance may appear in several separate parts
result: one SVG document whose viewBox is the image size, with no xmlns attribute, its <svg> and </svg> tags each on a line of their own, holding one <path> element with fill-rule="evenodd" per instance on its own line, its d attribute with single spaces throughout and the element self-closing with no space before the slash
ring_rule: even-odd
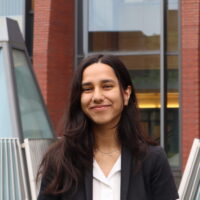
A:
<svg viewBox="0 0 200 200">
<path fill-rule="evenodd" d="M 53 127 L 67 102 L 74 61 L 74 0 L 35 0 L 33 65 Z"/>
</svg>

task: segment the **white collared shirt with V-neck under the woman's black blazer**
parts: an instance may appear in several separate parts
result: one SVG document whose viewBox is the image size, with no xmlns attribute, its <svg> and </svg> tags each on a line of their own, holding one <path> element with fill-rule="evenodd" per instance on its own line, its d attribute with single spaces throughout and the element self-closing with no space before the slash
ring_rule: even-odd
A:
<svg viewBox="0 0 200 200">
<path fill-rule="evenodd" d="M 108 176 L 93 161 L 93 200 L 120 200 L 121 155 Z"/>
</svg>

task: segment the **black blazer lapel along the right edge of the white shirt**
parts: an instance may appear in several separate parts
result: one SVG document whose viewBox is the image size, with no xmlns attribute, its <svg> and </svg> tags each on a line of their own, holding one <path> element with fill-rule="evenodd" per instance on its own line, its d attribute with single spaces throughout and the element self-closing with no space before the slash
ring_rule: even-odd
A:
<svg viewBox="0 0 200 200">
<path fill-rule="evenodd" d="M 132 156 L 130 151 L 122 148 L 122 162 L 121 162 L 121 200 L 127 199 L 129 179 L 131 174 Z"/>
</svg>

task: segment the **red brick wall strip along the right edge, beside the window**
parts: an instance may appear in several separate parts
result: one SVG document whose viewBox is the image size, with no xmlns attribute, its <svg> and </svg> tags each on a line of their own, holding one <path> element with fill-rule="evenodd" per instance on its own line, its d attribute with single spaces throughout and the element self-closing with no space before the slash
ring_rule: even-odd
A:
<svg viewBox="0 0 200 200">
<path fill-rule="evenodd" d="M 181 1 L 182 167 L 194 138 L 200 138 L 200 0 Z"/>
</svg>

